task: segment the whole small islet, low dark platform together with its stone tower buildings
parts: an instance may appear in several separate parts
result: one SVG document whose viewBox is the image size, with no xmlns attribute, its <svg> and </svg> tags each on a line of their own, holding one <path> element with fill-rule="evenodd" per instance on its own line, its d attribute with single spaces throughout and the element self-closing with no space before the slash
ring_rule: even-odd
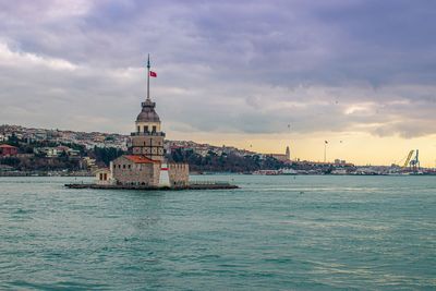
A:
<svg viewBox="0 0 436 291">
<path fill-rule="evenodd" d="M 131 133 L 129 153 L 110 161 L 109 168 L 95 171 L 93 184 L 65 184 L 70 189 L 120 189 L 120 190 L 215 190 L 238 189 L 226 182 L 190 183 L 190 167 L 186 162 L 168 162 L 165 158 L 160 118 L 156 104 L 149 96 L 149 77 L 157 74 L 150 71 L 147 61 L 147 97 Z"/>
</svg>

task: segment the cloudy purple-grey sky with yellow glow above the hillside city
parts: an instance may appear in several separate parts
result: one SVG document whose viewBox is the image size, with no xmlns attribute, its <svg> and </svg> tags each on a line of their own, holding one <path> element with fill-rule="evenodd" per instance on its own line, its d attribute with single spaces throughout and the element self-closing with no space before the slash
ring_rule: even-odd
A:
<svg viewBox="0 0 436 291">
<path fill-rule="evenodd" d="M 0 123 L 436 162 L 433 0 L 0 0 Z"/>
</svg>

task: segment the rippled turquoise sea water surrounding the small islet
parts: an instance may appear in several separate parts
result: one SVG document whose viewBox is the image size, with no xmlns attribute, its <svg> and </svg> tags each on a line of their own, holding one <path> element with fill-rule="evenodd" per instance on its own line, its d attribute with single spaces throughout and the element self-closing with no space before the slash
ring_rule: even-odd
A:
<svg viewBox="0 0 436 291">
<path fill-rule="evenodd" d="M 242 189 L 0 178 L 0 289 L 436 289 L 436 177 L 195 179 Z"/>
</svg>

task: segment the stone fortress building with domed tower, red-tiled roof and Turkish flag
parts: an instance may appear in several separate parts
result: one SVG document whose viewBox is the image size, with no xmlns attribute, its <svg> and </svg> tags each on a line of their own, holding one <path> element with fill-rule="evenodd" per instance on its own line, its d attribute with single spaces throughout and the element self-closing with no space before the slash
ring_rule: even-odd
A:
<svg viewBox="0 0 436 291">
<path fill-rule="evenodd" d="M 165 158 L 160 118 L 149 96 L 149 59 L 147 63 L 147 97 L 131 133 L 129 155 L 111 162 L 113 183 L 121 185 L 183 186 L 189 182 L 187 163 L 168 162 Z M 156 76 L 155 74 L 153 76 Z"/>
</svg>

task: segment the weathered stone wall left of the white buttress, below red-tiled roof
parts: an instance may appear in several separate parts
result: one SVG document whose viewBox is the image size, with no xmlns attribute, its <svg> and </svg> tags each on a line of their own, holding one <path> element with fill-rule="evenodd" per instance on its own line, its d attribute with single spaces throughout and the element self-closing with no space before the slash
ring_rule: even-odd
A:
<svg viewBox="0 0 436 291">
<path fill-rule="evenodd" d="M 117 184 L 150 186 L 159 184 L 160 163 L 135 163 L 121 156 L 113 160 L 112 171 Z"/>
</svg>

